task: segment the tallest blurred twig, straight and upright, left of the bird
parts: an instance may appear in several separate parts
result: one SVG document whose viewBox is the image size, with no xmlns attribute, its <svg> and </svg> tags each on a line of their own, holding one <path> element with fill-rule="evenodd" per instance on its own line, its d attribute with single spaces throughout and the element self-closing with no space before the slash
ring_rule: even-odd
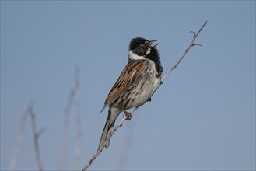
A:
<svg viewBox="0 0 256 171">
<path fill-rule="evenodd" d="M 75 124 L 76 124 L 76 145 L 75 145 L 75 169 L 79 169 L 81 162 L 81 141 L 82 141 L 82 127 L 80 119 L 80 99 L 79 99 L 79 67 L 75 67 Z"/>
</svg>

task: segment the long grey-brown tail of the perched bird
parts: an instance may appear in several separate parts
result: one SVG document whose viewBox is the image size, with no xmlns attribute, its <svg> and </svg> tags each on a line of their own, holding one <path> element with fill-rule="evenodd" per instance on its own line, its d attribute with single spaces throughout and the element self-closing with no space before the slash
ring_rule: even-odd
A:
<svg viewBox="0 0 256 171">
<path fill-rule="evenodd" d="M 114 122 L 117 119 L 118 115 L 120 112 L 117 111 L 111 111 L 112 108 L 110 107 L 110 110 L 108 110 L 108 116 L 107 116 L 107 121 L 106 124 L 104 126 L 104 129 L 102 131 L 101 137 L 100 137 L 100 144 L 98 146 L 98 151 L 100 150 L 100 148 L 102 147 L 102 145 L 105 143 L 105 141 L 107 140 L 107 134 L 110 131 L 111 127 L 114 127 Z M 110 145 L 110 141 L 107 142 L 107 144 L 105 145 L 106 148 L 108 148 Z"/>
</svg>

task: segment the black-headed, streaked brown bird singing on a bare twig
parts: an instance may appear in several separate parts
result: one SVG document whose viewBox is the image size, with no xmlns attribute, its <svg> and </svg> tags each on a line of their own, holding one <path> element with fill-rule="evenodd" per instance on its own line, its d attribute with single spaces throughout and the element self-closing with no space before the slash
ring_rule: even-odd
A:
<svg viewBox="0 0 256 171">
<path fill-rule="evenodd" d="M 121 112 L 133 107 L 138 108 L 151 101 L 151 96 L 160 86 L 163 68 L 156 48 L 156 40 L 135 37 L 128 48 L 128 64 L 124 67 L 105 100 L 103 110 L 109 106 L 106 124 L 100 137 L 98 151 L 107 140 L 107 134 L 114 127 Z M 132 117 L 131 113 L 127 120 Z M 105 145 L 108 148 L 110 141 Z"/>
</svg>

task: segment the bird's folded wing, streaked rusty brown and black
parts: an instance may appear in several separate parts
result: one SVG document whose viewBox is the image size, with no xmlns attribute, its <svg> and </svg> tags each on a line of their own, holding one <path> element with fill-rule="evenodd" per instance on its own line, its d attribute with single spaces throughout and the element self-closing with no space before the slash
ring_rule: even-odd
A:
<svg viewBox="0 0 256 171">
<path fill-rule="evenodd" d="M 143 60 L 130 61 L 128 65 L 124 67 L 124 70 L 121 72 L 117 82 L 110 90 L 110 93 L 108 94 L 103 109 L 100 111 L 100 113 L 105 109 L 106 106 L 109 106 L 111 103 L 113 103 L 114 100 L 125 93 L 129 87 L 133 86 L 137 82 L 137 80 L 142 75 L 143 68 Z"/>
</svg>

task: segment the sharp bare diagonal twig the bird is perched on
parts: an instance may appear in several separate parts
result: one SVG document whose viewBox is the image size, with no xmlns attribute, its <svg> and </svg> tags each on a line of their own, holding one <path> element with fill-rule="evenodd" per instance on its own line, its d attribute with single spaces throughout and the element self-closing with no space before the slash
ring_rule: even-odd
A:
<svg viewBox="0 0 256 171">
<path fill-rule="evenodd" d="M 179 59 L 179 61 L 177 61 L 177 63 L 170 68 L 169 71 L 166 72 L 166 74 L 163 76 L 163 79 L 161 79 L 161 84 L 163 84 L 164 80 L 167 79 L 167 76 L 170 75 L 170 72 L 172 72 L 175 68 L 177 68 L 177 65 L 179 65 L 181 63 L 181 61 L 183 60 L 183 58 L 185 57 L 185 55 L 188 53 L 188 51 L 191 49 L 191 47 L 197 45 L 197 46 L 202 46 L 201 44 L 194 44 L 195 39 L 198 37 L 198 34 L 203 30 L 203 28 L 205 27 L 205 25 L 207 24 L 207 21 L 205 21 L 205 23 L 202 25 L 202 27 L 200 28 L 200 30 L 198 30 L 198 33 L 195 33 L 193 31 L 191 31 L 191 33 L 193 33 L 193 39 L 191 41 L 191 43 L 189 44 L 188 48 L 184 51 L 184 53 L 182 54 L 181 58 Z M 157 89 L 159 88 L 159 86 L 157 87 Z M 131 114 L 136 110 L 137 108 L 133 108 Z M 86 164 L 86 166 L 82 169 L 82 171 L 85 171 L 86 169 L 88 169 L 88 167 L 93 163 L 93 161 L 96 159 L 96 157 L 100 154 L 100 152 L 102 152 L 103 148 L 105 147 L 105 145 L 107 144 L 108 141 L 110 141 L 110 138 L 112 137 L 112 135 L 114 134 L 114 132 L 122 126 L 122 124 L 124 123 L 124 121 L 127 120 L 126 115 L 124 115 L 123 119 L 120 121 L 119 124 L 117 124 L 117 126 L 114 127 L 114 129 L 112 131 L 110 131 L 110 133 L 107 136 L 107 140 L 104 142 L 104 144 L 101 146 L 101 148 L 96 152 L 95 155 L 93 155 L 93 158 Z"/>
</svg>

